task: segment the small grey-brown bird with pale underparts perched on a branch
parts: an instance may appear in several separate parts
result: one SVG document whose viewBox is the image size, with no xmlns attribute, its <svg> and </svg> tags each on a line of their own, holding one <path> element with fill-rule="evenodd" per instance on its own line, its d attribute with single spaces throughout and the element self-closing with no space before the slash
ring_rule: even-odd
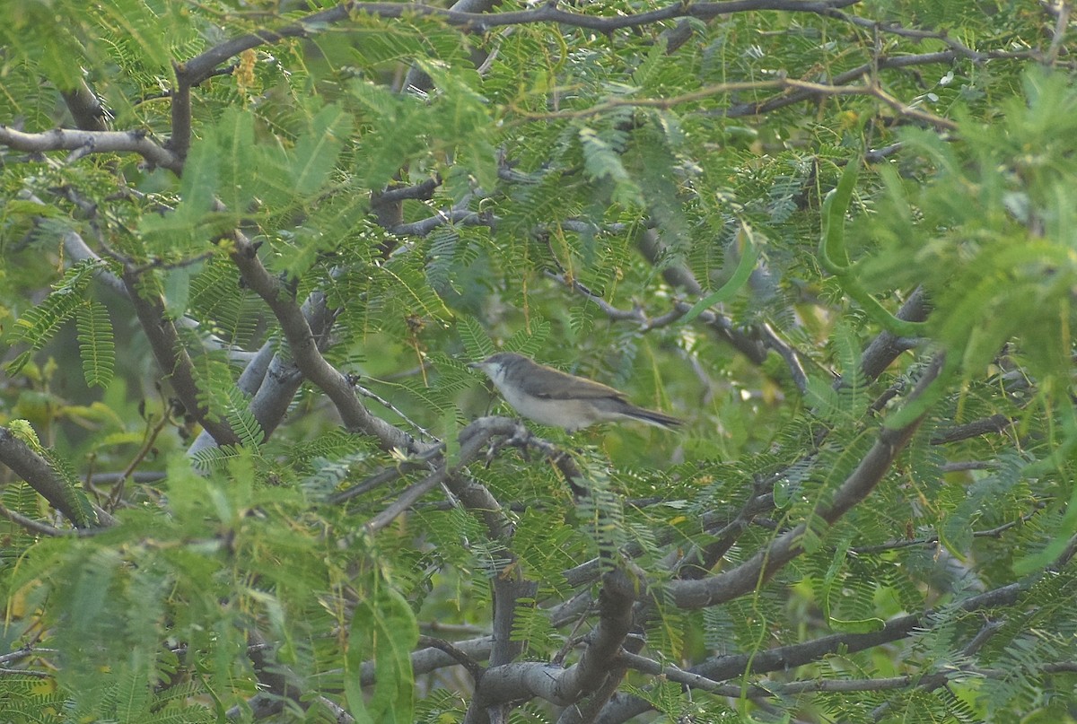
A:
<svg viewBox="0 0 1077 724">
<path fill-rule="evenodd" d="M 671 430 L 681 420 L 637 407 L 612 387 L 576 377 L 515 352 L 498 352 L 467 365 L 481 370 L 517 413 L 574 432 L 596 422 L 637 420 Z"/>
</svg>

